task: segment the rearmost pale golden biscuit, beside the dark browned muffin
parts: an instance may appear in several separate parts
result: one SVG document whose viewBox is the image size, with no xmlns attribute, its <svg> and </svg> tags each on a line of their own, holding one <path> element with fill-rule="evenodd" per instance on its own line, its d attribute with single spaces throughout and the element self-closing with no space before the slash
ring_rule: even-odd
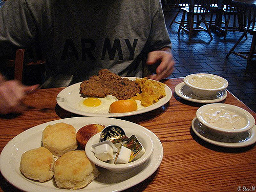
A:
<svg viewBox="0 0 256 192">
<path fill-rule="evenodd" d="M 76 150 L 76 129 L 62 122 L 48 125 L 42 132 L 42 144 L 56 156 Z"/>
</svg>

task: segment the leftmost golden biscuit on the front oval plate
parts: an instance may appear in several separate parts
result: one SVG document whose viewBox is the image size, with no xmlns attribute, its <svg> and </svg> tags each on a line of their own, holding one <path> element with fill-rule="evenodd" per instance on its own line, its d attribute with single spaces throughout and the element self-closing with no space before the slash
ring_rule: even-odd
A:
<svg viewBox="0 0 256 192">
<path fill-rule="evenodd" d="M 22 154 L 19 169 L 25 177 L 44 182 L 53 177 L 53 163 L 52 153 L 39 147 Z"/>
</svg>

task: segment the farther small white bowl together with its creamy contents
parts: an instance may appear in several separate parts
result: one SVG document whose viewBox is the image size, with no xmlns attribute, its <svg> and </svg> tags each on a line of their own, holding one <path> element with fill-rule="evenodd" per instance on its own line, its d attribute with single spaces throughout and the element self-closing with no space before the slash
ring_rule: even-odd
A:
<svg viewBox="0 0 256 192">
<path fill-rule="evenodd" d="M 194 95 L 202 98 L 214 97 L 219 91 L 228 86 L 228 81 L 218 75 L 196 73 L 187 75 L 184 83 L 193 91 Z"/>
</svg>

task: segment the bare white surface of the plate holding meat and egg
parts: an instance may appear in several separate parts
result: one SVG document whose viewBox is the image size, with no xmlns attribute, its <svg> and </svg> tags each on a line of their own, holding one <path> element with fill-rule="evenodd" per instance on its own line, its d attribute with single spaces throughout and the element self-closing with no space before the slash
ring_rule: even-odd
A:
<svg viewBox="0 0 256 192">
<path fill-rule="evenodd" d="M 135 80 L 136 79 L 136 77 L 126 77 L 126 78 L 128 78 L 130 80 Z M 107 114 L 89 113 L 89 112 L 84 112 L 84 111 L 81 111 L 81 110 L 77 109 L 77 103 L 80 100 L 83 99 L 83 97 L 81 97 L 81 94 L 79 93 L 80 92 L 80 90 L 79 90 L 80 89 L 80 84 L 81 84 L 81 82 L 73 84 L 72 86 L 69 86 L 69 87 L 63 89 L 57 95 L 56 100 L 57 100 L 58 105 L 62 109 L 66 110 L 66 111 L 69 111 L 71 113 L 75 113 L 75 114 L 83 115 L 83 116 L 124 117 L 124 116 L 137 115 L 137 114 L 149 112 L 149 111 L 155 110 L 157 108 L 160 108 L 160 106 L 167 103 L 170 100 L 170 98 L 172 97 L 172 90 L 170 90 L 170 88 L 168 86 L 165 86 L 166 96 L 159 99 L 159 101 L 157 103 L 154 103 L 150 106 L 147 106 L 146 108 L 143 108 L 143 109 L 140 109 L 140 110 L 137 110 L 137 111 L 133 111 L 133 112 L 127 112 L 127 113 L 107 113 Z"/>
</svg>

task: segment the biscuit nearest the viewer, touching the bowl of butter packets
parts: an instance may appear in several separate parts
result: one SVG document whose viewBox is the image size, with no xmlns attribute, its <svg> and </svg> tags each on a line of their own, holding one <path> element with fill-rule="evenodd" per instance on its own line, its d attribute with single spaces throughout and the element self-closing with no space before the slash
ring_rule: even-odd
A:
<svg viewBox="0 0 256 192">
<path fill-rule="evenodd" d="M 79 189 L 92 182 L 98 169 L 84 151 L 71 151 L 59 157 L 53 166 L 54 180 L 59 188 Z"/>
</svg>

